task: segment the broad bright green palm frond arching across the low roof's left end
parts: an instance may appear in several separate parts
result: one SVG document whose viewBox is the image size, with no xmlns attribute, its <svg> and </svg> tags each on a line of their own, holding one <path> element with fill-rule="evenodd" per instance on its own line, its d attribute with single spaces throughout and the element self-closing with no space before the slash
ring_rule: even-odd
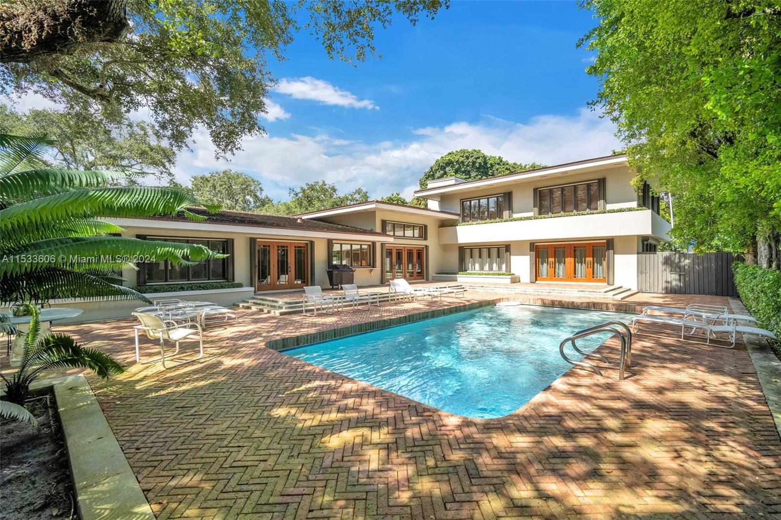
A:
<svg viewBox="0 0 781 520">
<path fill-rule="evenodd" d="M 0 233 L 25 233 L 51 220 L 95 217 L 176 216 L 194 204 L 186 194 L 164 187 L 78 189 L 21 202 L 0 210 Z M 207 217 L 191 215 L 193 220 Z"/>
</svg>

